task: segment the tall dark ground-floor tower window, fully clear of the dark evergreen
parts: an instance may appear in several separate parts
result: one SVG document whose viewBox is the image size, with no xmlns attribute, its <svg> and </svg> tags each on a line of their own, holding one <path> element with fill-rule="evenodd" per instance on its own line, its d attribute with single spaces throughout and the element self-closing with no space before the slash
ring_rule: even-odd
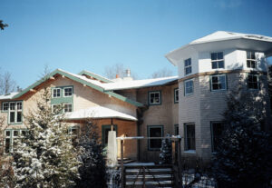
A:
<svg viewBox="0 0 272 188">
<path fill-rule="evenodd" d="M 184 124 L 185 150 L 196 150 L 195 124 Z"/>
</svg>

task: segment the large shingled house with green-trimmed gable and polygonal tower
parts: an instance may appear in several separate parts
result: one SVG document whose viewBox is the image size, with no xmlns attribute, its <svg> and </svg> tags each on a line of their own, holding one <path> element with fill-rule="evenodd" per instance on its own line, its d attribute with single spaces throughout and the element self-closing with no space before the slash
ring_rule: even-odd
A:
<svg viewBox="0 0 272 188">
<path fill-rule="evenodd" d="M 97 124 L 104 146 L 112 124 L 118 136 L 180 134 L 183 156 L 209 161 L 223 124 L 228 91 L 243 81 L 248 92 L 265 94 L 266 113 L 270 114 L 269 55 L 271 37 L 216 32 L 166 54 L 170 63 L 178 66 L 179 76 L 133 80 L 128 72 L 127 77 L 109 80 L 88 71 L 73 74 L 57 69 L 20 93 L 0 96 L 5 153 L 10 153 L 16 137 L 24 134 L 23 114 L 34 108 L 46 86 L 51 90 L 52 107 L 63 104 L 65 121 L 74 134 L 90 118 Z M 125 140 L 124 157 L 158 161 L 160 145 L 160 139 Z M 120 143 L 118 148 L 120 155 Z"/>
</svg>

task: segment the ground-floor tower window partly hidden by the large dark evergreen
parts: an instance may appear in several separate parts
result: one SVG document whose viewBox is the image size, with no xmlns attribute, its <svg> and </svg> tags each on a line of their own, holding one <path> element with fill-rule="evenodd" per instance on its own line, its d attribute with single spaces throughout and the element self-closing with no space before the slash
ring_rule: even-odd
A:
<svg viewBox="0 0 272 188">
<path fill-rule="evenodd" d="M 210 131 L 211 131 L 211 150 L 212 152 L 218 151 L 219 148 L 219 140 L 223 133 L 223 126 L 222 122 L 211 122 L 210 124 Z"/>
</svg>

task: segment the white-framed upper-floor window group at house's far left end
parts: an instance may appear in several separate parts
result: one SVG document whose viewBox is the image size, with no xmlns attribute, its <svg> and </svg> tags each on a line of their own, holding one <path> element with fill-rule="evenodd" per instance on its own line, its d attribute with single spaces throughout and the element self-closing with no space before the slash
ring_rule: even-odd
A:
<svg viewBox="0 0 272 188">
<path fill-rule="evenodd" d="M 3 103 L 3 110 L 8 112 L 8 124 L 22 123 L 22 102 L 5 102 Z"/>
</svg>

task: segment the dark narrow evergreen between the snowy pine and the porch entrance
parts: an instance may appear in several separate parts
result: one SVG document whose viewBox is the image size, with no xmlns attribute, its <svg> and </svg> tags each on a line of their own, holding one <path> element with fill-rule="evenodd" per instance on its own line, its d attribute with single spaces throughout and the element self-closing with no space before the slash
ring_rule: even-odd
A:
<svg viewBox="0 0 272 188">
<path fill-rule="evenodd" d="M 106 187 L 106 165 L 102 155 L 102 144 L 98 141 L 97 127 L 89 121 L 82 129 L 79 139 L 81 148 L 79 168 L 81 180 L 77 181 L 79 188 Z"/>
</svg>

